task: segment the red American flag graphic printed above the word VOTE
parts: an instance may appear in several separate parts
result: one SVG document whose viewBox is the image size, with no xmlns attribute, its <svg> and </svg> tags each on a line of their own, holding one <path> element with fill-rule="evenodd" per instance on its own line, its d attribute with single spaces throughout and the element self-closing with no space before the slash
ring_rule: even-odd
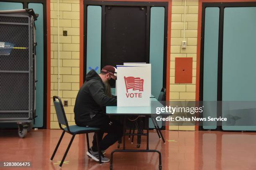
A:
<svg viewBox="0 0 256 170">
<path fill-rule="evenodd" d="M 125 87 L 126 87 L 126 92 L 128 92 L 128 89 L 133 89 L 133 90 L 139 90 L 143 92 L 143 82 L 144 80 L 141 79 L 140 77 L 125 77 Z"/>
</svg>

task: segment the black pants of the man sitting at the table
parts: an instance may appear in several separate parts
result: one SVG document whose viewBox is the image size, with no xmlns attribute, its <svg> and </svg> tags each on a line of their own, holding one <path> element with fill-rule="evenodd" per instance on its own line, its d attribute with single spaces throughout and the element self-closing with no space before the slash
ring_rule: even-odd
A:
<svg viewBox="0 0 256 170">
<path fill-rule="evenodd" d="M 123 136 L 123 125 L 116 120 L 106 120 L 100 125 L 91 125 L 92 128 L 100 128 L 99 144 L 100 150 L 106 150 Z M 102 139 L 104 133 L 108 133 Z M 92 150 L 97 151 L 96 135 L 93 136 Z"/>
</svg>

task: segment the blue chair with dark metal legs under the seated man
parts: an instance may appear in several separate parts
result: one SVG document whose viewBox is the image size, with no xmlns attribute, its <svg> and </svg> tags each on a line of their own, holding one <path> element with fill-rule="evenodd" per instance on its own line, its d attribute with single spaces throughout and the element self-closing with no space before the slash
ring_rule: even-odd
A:
<svg viewBox="0 0 256 170">
<path fill-rule="evenodd" d="M 60 167 L 62 166 L 62 164 L 63 164 L 63 162 L 64 162 L 64 160 L 65 160 L 65 158 L 67 156 L 67 153 L 69 152 L 69 148 L 70 148 L 70 146 L 71 146 L 71 144 L 72 144 L 72 142 L 74 140 L 75 135 L 78 135 L 78 134 L 86 134 L 87 150 L 89 152 L 90 145 L 89 145 L 88 133 L 95 133 L 96 141 L 97 141 L 98 153 L 99 153 L 99 155 L 101 155 L 101 150 L 100 150 L 100 145 L 99 145 L 99 136 L 98 136 L 98 132 L 99 132 L 100 128 L 81 127 L 81 126 L 77 126 L 77 125 L 69 126 L 69 124 L 67 122 L 67 117 L 65 115 L 64 107 L 62 105 L 60 97 L 54 96 L 53 100 L 54 100 L 54 106 L 55 106 L 55 110 L 56 110 L 56 115 L 57 115 L 58 122 L 59 122 L 59 128 L 61 130 L 63 130 L 63 132 L 61 134 L 61 137 L 59 138 L 59 142 L 56 145 L 54 153 L 51 156 L 51 160 L 53 160 L 54 155 L 55 155 L 56 151 L 59 148 L 59 144 L 61 143 L 61 140 L 62 140 L 65 132 L 71 134 L 72 138 L 71 138 L 71 140 L 69 142 L 69 145 L 67 147 L 66 152 L 64 153 L 64 156 L 63 156 L 63 158 L 61 160 L 61 163 L 59 164 Z M 62 128 L 61 125 L 65 125 L 66 128 Z M 100 163 L 101 163 L 101 156 L 100 156 Z"/>
</svg>

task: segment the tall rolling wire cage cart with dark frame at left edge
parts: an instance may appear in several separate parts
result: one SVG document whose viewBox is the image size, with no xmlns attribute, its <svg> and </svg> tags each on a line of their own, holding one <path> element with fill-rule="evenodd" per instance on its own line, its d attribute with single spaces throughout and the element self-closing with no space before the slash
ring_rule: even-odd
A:
<svg viewBox="0 0 256 170">
<path fill-rule="evenodd" d="M 37 17 L 33 9 L 0 11 L 0 123 L 17 122 L 20 138 L 36 117 Z"/>
</svg>

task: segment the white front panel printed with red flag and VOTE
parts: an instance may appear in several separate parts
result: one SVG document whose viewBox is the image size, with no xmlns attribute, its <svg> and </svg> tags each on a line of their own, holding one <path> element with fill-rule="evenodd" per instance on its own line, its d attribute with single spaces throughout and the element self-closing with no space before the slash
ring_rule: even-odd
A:
<svg viewBox="0 0 256 170">
<path fill-rule="evenodd" d="M 151 67 L 117 65 L 117 70 L 117 106 L 149 106 Z"/>
</svg>

